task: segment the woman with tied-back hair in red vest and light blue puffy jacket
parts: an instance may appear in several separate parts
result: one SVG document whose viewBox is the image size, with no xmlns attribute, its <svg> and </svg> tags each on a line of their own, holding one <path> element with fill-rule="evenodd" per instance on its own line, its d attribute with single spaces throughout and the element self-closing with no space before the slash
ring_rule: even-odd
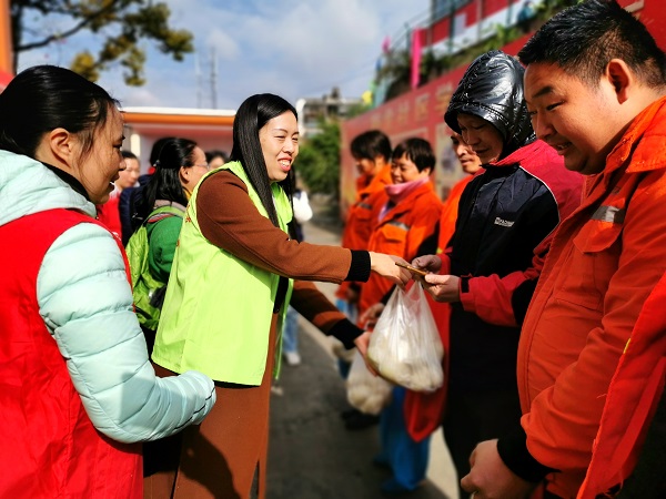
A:
<svg viewBox="0 0 666 499">
<path fill-rule="evenodd" d="M 51 65 L 0 94 L 3 498 L 141 498 L 140 442 L 215 401 L 201 373 L 155 377 L 122 244 L 94 220 L 124 165 L 117 105 Z"/>
</svg>

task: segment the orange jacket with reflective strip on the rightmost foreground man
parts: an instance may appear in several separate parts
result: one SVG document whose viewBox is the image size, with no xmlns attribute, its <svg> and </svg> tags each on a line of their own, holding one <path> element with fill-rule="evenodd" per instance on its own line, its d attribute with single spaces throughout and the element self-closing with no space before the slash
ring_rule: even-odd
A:
<svg viewBox="0 0 666 499">
<path fill-rule="evenodd" d="M 517 379 L 527 450 L 575 497 L 610 379 L 666 269 L 666 98 L 645 109 L 557 230 L 523 323 Z"/>
</svg>

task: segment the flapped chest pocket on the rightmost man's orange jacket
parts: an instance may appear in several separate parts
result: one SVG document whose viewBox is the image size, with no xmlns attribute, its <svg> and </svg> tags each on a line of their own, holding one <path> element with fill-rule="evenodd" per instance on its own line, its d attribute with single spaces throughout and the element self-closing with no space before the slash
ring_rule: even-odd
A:
<svg viewBox="0 0 666 499">
<path fill-rule="evenodd" d="M 555 299 L 602 312 L 608 282 L 622 252 L 622 223 L 588 221 L 573 240 L 569 258 L 561 268 Z"/>
</svg>

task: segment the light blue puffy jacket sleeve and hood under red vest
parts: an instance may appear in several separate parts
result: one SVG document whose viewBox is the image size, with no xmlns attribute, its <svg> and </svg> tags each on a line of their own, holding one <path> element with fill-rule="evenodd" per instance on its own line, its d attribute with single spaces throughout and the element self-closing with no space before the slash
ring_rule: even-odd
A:
<svg viewBox="0 0 666 499">
<path fill-rule="evenodd" d="M 42 163 L 0 151 L 0 225 L 57 207 L 95 216 L 94 205 Z M 155 377 L 111 233 L 87 223 L 65 231 L 47 252 L 37 288 L 40 314 L 98 430 L 122 442 L 154 440 L 211 410 L 215 391 L 203 374 Z"/>
</svg>

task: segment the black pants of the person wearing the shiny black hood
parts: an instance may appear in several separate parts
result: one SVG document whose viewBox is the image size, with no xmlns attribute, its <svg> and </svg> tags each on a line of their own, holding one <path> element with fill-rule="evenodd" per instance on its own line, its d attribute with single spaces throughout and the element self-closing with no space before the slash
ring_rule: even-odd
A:
<svg viewBox="0 0 666 499">
<path fill-rule="evenodd" d="M 518 390 L 460 393 L 450 389 L 444 416 L 444 440 L 460 480 L 470 472 L 476 444 L 515 432 L 521 426 Z M 468 496 L 462 488 L 461 498 Z"/>
</svg>

